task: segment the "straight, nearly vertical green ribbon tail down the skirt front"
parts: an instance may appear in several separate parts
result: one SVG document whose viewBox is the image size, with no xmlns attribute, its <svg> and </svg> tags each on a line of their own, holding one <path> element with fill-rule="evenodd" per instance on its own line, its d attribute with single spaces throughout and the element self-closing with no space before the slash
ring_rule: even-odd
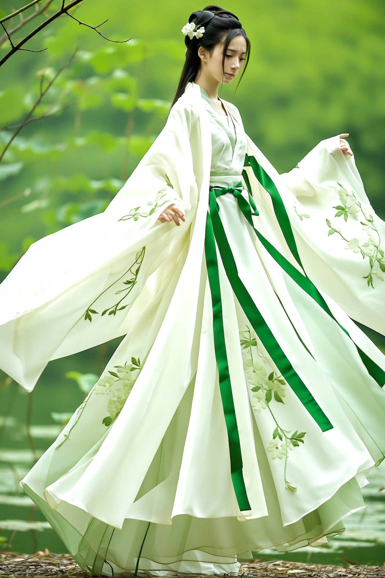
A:
<svg viewBox="0 0 385 578">
<path fill-rule="evenodd" d="M 214 232 L 212 230 L 210 214 L 207 212 L 205 240 L 205 258 L 208 281 L 210 284 L 212 301 L 212 324 L 214 332 L 214 348 L 216 364 L 219 374 L 219 390 L 222 398 L 223 413 L 229 438 L 231 480 L 240 510 L 251 510 L 246 494 L 245 481 L 242 473 L 242 454 L 240 436 L 238 433 L 237 417 L 234 407 L 233 392 L 231 390 L 229 364 L 227 362 L 225 329 L 223 328 L 222 299 L 220 297 L 218 260 L 216 257 Z"/>
</svg>

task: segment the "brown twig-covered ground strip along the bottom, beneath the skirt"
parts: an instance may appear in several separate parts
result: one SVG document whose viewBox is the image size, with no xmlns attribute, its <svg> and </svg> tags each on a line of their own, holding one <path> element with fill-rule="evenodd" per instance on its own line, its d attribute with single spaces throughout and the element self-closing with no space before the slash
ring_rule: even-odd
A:
<svg viewBox="0 0 385 578">
<path fill-rule="evenodd" d="M 241 565 L 241 576 L 300 576 L 301 578 L 347 578 L 353 576 L 385 577 L 384 566 L 334 566 L 324 564 L 304 564 L 302 562 L 287 562 L 275 560 L 266 562 L 252 560 Z M 37 577 L 66 576 L 83 578 L 84 570 L 79 568 L 69 554 L 53 554 L 48 550 L 35 555 L 0 552 L 0 576 Z M 192 576 L 192 575 L 184 575 Z M 203 576 L 203 575 L 202 575 Z"/>
</svg>

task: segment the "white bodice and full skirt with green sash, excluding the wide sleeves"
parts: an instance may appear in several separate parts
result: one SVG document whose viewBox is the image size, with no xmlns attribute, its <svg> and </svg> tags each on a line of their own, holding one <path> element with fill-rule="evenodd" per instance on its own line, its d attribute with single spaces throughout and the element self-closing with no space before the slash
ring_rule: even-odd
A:
<svg viewBox="0 0 385 578">
<path fill-rule="evenodd" d="M 236 574 L 251 550 L 325 543 L 365 507 L 360 488 L 385 455 L 385 392 L 346 332 L 257 238 L 239 198 L 250 202 L 244 129 L 200 91 L 211 195 L 233 189 L 211 196 L 224 235 L 219 247 L 207 221 L 196 310 L 189 315 L 180 289 L 188 245 L 180 254 L 171 243 L 161 290 L 139 316 L 130 310 L 98 383 L 22 482 L 96 576 Z M 274 237 L 263 198 L 255 201 L 254 222 Z M 158 234 L 172 226 L 154 225 Z M 324 298 L 385 369 L 383 354 Z M 96 316 L 107 304 L 91 305 Z"/>
</svg>

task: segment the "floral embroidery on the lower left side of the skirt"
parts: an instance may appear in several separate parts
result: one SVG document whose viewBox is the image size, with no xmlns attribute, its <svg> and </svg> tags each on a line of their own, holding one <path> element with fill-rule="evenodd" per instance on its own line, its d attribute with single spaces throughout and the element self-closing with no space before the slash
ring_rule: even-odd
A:
<svg viewBox="0 0 385 578">
<path fill-rule="evenodd" d="M 109 399 L 107 404 L 109 415 L 103 418 L 102 423 L 106 425 L 106 427 L 109 427 L 116 420 L 140 373 L 140 358 L 138 357 L 136 359 L 132 357 L 130 364 L 126 362 L 124 365 L 114 365 L 114 368 L 116 371 L 109 370 L 108 375 L 100 377 L 87 395 L 87 398 L 85 398 L 84 402 L 78 407 L 76 421 L 72 424 L 68 433 L 63 433 L 64 439 L 55 447 L 56 450 L 59 449 L 66 440 L 70 439 L 70 433 L 79 422 L 81 414 L 83 413 L 91 395 L 113 394 L 113 397 Z M 133 372 L 138 373 L 134 375 Z"/>
</svg>

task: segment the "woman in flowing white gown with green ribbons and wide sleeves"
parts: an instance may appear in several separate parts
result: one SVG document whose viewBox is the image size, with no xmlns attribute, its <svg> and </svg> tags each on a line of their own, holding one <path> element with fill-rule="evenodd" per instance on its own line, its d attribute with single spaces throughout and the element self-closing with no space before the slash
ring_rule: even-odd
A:
<svg viewBox="0 0 385 578">
<path fill-rule="evenodd" d="M 207 6 L 182 32 L 125 186 L 0 287 L 1 368 L 29 391 L 125 335 L 22 481 L 95 576 L 237 574 L 251 550 L 326 543 L 385 455 L 385 357 L 350 318 L 383 332 L 384 224 L 347 135 L 278 175 L 218 97 L 249 55 L 238 18 Z"/>
</svg>

